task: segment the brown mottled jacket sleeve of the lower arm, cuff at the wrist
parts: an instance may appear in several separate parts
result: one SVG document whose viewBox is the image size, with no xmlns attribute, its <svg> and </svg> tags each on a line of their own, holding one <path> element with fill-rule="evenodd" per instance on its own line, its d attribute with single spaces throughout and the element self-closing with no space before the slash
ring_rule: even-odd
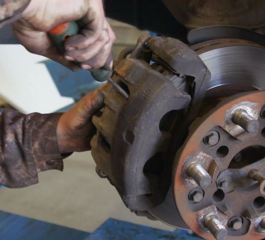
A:
<svg viewBox="0 0 265 240">
<path fill-rule="evenodd" d="M 64 156 L 59 153 L 56 138 L 61 115 L 24 115 L 0 108 L 0 184 L 26 187 L 38 183 L 40 171 L 63 170 Z"/>
</svg>

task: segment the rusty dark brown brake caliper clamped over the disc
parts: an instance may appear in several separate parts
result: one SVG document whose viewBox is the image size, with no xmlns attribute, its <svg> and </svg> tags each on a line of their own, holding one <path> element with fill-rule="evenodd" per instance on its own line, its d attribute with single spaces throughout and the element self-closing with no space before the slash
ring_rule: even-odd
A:
<svg viewBox="0 0 265 240">
<path fill-rule="evenodd" d="M 128 208 L 148 211 L 164 201 L 174 155 L 198 114 L 210 73 L 186 44 L 142 36 L 121 53 L 112 78 L 130 97 L 110 84 L 104 89 L 105 106 L 93 117 L 92 156 Z"/>
</svg>

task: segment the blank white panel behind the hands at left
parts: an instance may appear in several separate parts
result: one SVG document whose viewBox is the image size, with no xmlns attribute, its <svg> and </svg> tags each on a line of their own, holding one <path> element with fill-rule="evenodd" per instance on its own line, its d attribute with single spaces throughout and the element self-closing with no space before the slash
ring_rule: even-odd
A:
<svg viewBox="0 0 265 240">
<path fill-rule="evenodd" d="M 68 104 L 42 61 L 21 45 L 0 45 L 0 98 L 23 113 L 50 113 Z"/>
</svg>

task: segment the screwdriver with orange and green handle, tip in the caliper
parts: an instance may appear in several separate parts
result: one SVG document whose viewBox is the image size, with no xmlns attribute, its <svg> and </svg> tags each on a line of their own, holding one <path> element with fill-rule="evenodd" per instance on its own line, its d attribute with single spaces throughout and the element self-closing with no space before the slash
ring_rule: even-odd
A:
<svg viewBox="0 0 265 240">
<path fill-rule="evenodd" d="M 67 39 L 67 37 L 78 33 L 79 26 L 76 22 L 64 23 L 49 31 L 49 35 L 52 38 L 53 42 L 62 52 L 65 52 L 65 40 Z M 109 77 L 111 70 L 99 68 L 90 70 L 90 72 L 95 80 L 101 82 L 107 80 L 124 98 L 129 98 L 128 93 L 117 82 Z"/>
</svg>

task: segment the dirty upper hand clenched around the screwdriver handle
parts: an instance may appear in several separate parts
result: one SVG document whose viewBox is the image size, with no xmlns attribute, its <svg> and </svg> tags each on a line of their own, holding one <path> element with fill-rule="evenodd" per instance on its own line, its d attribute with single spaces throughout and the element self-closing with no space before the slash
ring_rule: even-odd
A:
<svg viewBox="0 0 265 240">
<path fill-rule="evenodd" d="M 79 34 L 70 36 L 62 54 L 48 35 L 54 27 L 77 21 Z M 107 22 L 102 0 L 31 0 L 22 18 L 12 24 L 20 43 L 31 53 L 55 60 L 73 71 L 110 68 L 115 34 Z M 108 59 L 108 61 L 107 61 Z M 107 62 L 106 62 L 107 61 Z"/>
</svg>

